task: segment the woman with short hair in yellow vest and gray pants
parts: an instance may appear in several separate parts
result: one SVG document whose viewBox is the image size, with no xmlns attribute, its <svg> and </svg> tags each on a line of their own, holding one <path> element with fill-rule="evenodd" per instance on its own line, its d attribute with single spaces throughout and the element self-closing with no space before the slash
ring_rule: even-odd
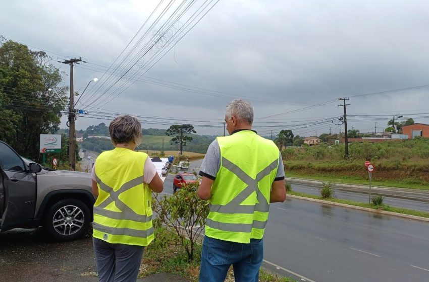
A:
<svg viewBox="0 0 429 282">
<path fill-rule="evenodd" d="M 115 149 L 101 153 L 92 169 L 93 245 L 98 279 L 136 281 L 144 247 L 153 240 L 151 193 L 163 181 L 141 143 L 137 117 L 121 115 L 109 125 Z"/>
</svg>

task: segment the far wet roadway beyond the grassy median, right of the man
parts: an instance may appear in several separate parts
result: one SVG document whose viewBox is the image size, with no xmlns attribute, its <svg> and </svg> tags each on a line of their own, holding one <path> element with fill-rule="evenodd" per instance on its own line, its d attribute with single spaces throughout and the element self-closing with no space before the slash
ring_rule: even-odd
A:
<svg viewBox="0 0 429 282">
<path fill-rule="evenodd" d="M 320 195 L 320 187 L 296 184 L 296 183 L 292 183 L 291 185 L 292 185 L 293 191 L 307 193 L 311 195 Z M 336 189 L 335 197 L 339 199 L 368 202 L 368 193 L 352 192 L 352 191 Z M 401 199 L 401 198 L 384 196 L 384 203 L 391 206 L 404 207 L 404 208 L 429 212 L 429 203 L 418 201 L 418 200 Z"/>
</svg>

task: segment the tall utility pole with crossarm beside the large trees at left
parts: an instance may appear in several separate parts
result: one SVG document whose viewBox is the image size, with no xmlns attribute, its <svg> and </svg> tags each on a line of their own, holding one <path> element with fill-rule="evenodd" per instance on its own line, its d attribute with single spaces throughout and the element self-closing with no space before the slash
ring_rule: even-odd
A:
<svg viewBox="0 0 429 282">
<path fill-rule="evenodd" d="M 64 64 L 70 65 L 70 106 L 69 106 L 69 136 L 70 136 L 70 149 L 69 149 L 69 164 L 72 170 L 76 169 L 76 116 L 74 106 L 74 91 L 73 91 L 73 64 L 82 61 L 79 58 L 73 58 L 70 60 L 60 61 Z"/>
</svg>

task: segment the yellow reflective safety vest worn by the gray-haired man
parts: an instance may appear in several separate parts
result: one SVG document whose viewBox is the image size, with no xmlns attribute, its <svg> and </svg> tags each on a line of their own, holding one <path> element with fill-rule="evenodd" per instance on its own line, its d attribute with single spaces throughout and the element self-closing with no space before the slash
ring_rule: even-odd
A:
<svg viewBox="0 0 429 282">
<path fill-rule="evenodd" d="M 251 130 L 218 137 L 221 168 L 211 187 L 205 235 L 249 243 L 263 237 L 279 149 Z"/>
</svg>

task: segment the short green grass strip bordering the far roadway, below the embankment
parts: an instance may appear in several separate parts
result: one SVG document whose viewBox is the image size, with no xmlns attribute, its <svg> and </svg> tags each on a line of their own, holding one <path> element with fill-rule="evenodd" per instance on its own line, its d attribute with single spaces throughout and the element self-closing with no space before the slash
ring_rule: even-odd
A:
<svg viewBox="0 0 429 282">
<path fill-rule="evenodd" d="M 362 179 L 358 176 L 343 176 L 343 175 L 333 175 L 330 173 L 317 173 L 311 174 L 311 176 L 307 174 L 297 173 L 294 171 L 287 171 L 286 177 L 297 177 L 304 178 L 309 180 L 320 180 L 320 181 L 331 181 L 334 183 L 345 183 L 345 184 L 362 184 L 368 185 L 369 180 Z M 410 180 L 411 181 L 411 180 Z M 385 187 L 394 187 L 394 188 L 409 188 L 409 189 L 421 189 L 421 190 L 429 190 L 429 185 L 427 184 L 414 184 L 409 183 L 410 181 L 397 181 L 397 180 L 377 180 L 377 173 L 372 175 L 372 185 L 375 186 L 385 186 Z"/>
</svg>

